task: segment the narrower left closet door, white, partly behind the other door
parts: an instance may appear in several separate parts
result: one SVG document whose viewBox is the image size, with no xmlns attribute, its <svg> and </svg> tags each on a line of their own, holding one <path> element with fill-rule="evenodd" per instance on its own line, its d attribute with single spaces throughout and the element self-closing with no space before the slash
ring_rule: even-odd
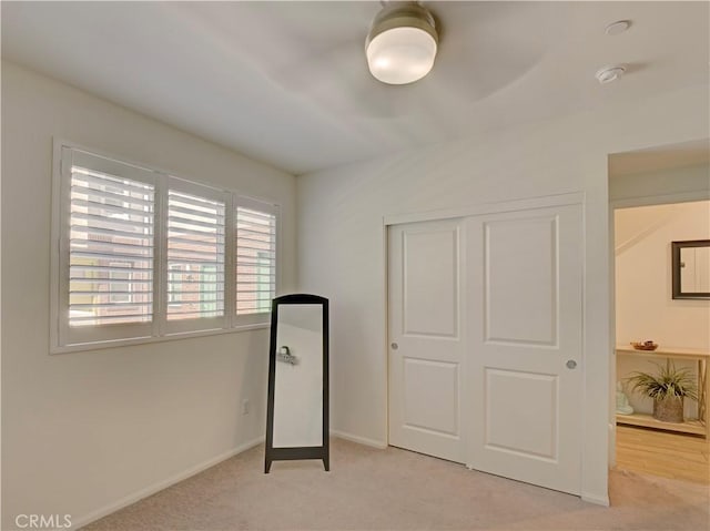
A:
<svg viewBox="0 0 710 531">
<path fill-rule="evenodd" d="M 388 236 L 389 443 L 465 462 L 460 222 Z"/>
</svg>

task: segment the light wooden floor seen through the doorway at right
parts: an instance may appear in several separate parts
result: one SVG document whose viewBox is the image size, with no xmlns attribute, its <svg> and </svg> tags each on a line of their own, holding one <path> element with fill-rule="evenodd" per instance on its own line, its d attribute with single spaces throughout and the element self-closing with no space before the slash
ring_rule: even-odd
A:
<svg viewBox="0 0 710 531">
<path fill-rule="evenodd" d="M 617 468 L 710 484 L 710 443 L 698 436 L 617 426 Z"/>
</svg>

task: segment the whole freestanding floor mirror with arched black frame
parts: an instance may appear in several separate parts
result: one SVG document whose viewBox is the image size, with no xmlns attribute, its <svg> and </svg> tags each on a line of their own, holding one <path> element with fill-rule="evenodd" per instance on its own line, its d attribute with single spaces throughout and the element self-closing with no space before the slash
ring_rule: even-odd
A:
<svg viewBox="0 0 710 531">
<path fill-rule="evenodd" d="M 284 295 L 272 303 L 264 472 L 280 460 L 328 452 L 328 299 Z"/>
</svg>

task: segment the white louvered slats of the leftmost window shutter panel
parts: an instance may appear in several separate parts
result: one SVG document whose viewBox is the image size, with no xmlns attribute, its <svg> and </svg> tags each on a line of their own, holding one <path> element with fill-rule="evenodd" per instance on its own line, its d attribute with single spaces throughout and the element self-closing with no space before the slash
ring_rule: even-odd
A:
<svg viewBox="0 0 710 531">
<path fill-rule="evenodd" d="M 154 186 L 71 167 L 69 326 L 153 318 Z"/>
</svg>

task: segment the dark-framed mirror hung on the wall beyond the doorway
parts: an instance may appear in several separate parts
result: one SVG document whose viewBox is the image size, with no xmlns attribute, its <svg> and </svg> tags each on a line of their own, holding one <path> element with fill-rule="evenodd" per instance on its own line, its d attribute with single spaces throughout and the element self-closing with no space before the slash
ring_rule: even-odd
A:
<svg viewBox="0 0 710 531">
<path fill-rule="evenodd" d="M 673 298 L 710 298 L 710 239 L 671 242 Z"/>
</svg>

